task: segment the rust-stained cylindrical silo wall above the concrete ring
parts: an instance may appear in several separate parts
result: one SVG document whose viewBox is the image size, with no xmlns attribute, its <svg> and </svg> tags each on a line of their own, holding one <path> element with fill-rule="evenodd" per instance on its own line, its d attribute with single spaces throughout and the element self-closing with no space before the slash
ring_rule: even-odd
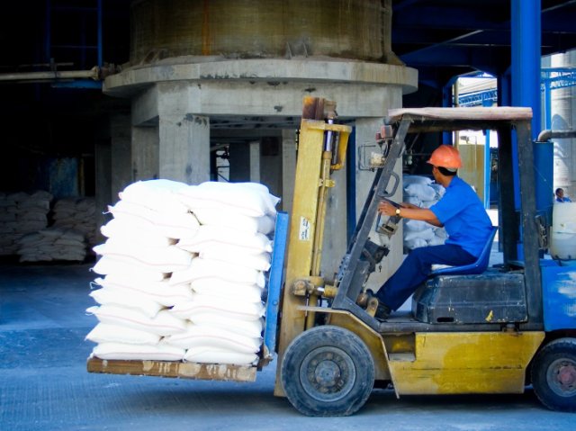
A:
<svg viewBox="0 0 576 431">
<path fill-rule="evenodd" d="M 380 0 L 140 0 L 131 5 L 130 63 L 161 57 L 328 56 L 386 62 Z"/>
</svg>

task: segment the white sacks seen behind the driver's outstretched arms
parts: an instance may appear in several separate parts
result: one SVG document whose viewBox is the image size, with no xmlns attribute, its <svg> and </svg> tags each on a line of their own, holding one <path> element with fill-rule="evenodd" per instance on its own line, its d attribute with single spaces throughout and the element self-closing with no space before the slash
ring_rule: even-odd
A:
<svg viewBox="0 0 576 431">
<path fill-rule="evenodd" d="M 420 208 L 430 208 L 438 202 L 445 188 L 436 184 L 428 176 L 404 175 L 402 178 L 404 202 Z M 413 250 L 418 247 L 438 246 L 447 238 L 446 229 L 437 228 L 420 220 L 404 220 L 404 248 Z"/>
</svg>

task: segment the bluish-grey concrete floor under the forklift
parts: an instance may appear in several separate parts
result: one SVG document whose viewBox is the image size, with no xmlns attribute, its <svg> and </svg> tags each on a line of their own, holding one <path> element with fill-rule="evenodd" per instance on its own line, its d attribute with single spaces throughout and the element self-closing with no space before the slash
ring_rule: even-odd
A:
<svg viewBox="0 0 576 431">
<path fill-rule="evenodd" d="M 273 396 L 275 363 L 257 382 L 91 374 L 84 341 L 90 265 L 0 264 L 0 430 L 541 430 L 576 415 L 523 395 L 403 397 L 375 390 L 351 418 L 306 418 Z"/>
</svg>

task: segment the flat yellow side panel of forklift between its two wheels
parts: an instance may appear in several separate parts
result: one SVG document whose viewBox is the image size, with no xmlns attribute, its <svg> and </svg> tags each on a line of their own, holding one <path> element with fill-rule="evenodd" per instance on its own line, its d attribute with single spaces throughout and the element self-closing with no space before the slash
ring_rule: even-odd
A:
<svg viewBox="0 0 576 431">
<path fill-rule="evenodd" d="M 417 333 L 414 352 L 389 356 L 394 389 L 398 395 L 522 393 L 544 337 L 536 331 Z"/>
</svg>

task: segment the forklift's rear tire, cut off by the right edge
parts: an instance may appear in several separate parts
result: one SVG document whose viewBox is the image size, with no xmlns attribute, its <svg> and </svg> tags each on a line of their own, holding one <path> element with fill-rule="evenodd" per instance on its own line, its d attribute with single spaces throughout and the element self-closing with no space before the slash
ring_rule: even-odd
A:
<svg viewBox="0 0 576 431">
<path fill-rule="evenodd" d="M 576 411 L 576 338 L 558 338 L 536 354 L 532 387 L 548 409 Z"/>
</svg>

